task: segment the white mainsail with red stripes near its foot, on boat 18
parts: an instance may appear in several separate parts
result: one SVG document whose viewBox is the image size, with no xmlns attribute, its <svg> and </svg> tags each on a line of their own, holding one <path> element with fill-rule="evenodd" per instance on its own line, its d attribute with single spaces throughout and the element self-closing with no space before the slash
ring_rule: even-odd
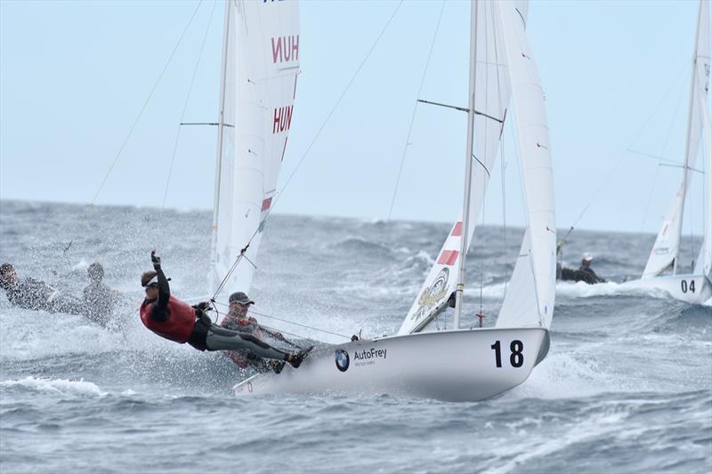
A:
<svg viewBox="0 0 712 474">
<path fill-rule="evenodd" d="M 477 115 L 474 116 L 476 140 L 466 240 L 468 246 L 472 245 L 475 224 L 497 157 L 510 96 L 509 73 L 502 46 L 502 34 L 498 27 L 497 5 L 490 1 L 479 1 L 476 7 L 476 47 L 473 53 L 476 77 L 474 109 Z M 457 221 L 450 229 L 437 260 L 417 293 L 416 301 L 403 320 L 399 334 L 417 333 L 448 304 L 450 295 L 457 287 L 462 234 L 462 221 Z"/>
</svg>

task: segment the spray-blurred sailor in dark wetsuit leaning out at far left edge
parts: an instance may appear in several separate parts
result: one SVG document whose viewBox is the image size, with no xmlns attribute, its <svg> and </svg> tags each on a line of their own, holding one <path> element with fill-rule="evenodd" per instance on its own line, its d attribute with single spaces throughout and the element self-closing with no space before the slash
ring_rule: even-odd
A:
<svg viewBox="0 0 712 474">
<path fill-rule="evenodd" d="M 5 290 L 7 300 L 20 308 L 51 313 L 82 314 L 81 301 L 61 294 L 44 281 L 30 277 L 20 280 L 10 263 L 0 265 L 0 287 Z"/>
</svg>

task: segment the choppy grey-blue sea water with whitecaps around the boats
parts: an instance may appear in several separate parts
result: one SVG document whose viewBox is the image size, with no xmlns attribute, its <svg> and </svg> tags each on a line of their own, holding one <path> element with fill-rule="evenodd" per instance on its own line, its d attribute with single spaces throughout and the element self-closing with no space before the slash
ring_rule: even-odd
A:
<svg viewBox="0 0 712 474">
<path fill-rule="evenodd" d="M 238 399 L 230 389 L 246 374 L 227 358 L 164 341 L 137 315 L 154 246 L 174 294 L 206 293 L 210 226 L 205 211 L 0 203 L 0 260 L 73 294 L 100 261 L 128 320 L 111 332 L 14 308 L 0 291 L 0 471 L 712 471 L 712 308 L 615 283 L 560 284 L 547 358 L 497 398 Z M 395 333 L 448 230 L 275 215 L 254 309 L 320 341 Z M 466 314 L 497 313 L 521 236 L 478 229 Z M 620 281 L 642 269 L 653 240 L 576 231 L 564 261 L 595 253 L 598 273 Z M 685 241 L 684 255 L 698 244 Z"/>
</svg>

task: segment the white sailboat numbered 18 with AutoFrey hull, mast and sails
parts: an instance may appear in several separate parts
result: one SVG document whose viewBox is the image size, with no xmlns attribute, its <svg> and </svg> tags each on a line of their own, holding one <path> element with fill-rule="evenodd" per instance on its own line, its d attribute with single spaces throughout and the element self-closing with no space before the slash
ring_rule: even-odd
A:
<svg viewBox="0 0 712 474">
<path fill-rule="evenodd" d="M 281 374 L 239 382 L 236 396 L 328 392 L 481 400 L 521 384 L 546 357 L 554 312 L 554 183 L 544 94 L 525 32 L 527 6 L 525 1 L 471 3 L 462 218 L 449 231 L 398 333 L 315 349 L 298 370 L 287 367 Z M 463 328 L 465 254 L 503 127 L 513 116 L 507 114 L 510 96 L 528 225 L 497 323 Z M 231 248 L 236 250 L 239 245 Z M 433 321 L 453 303 L 454 328 L 433 330 Z"/>
</svg>

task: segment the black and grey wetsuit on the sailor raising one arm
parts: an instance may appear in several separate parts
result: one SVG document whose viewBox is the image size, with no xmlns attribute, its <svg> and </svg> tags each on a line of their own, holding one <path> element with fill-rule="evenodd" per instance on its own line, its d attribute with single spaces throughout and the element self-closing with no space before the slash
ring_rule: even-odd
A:
<svg viewBox="0 0 712 474">
<path fill-rule="evenodd" d="M 158 271 L 158 301 L 146 299 L 142 306 L 152 305 L 150 308 L 150 318 L 158 322 L 165 322 L 170 317 L 168 310 L 168 299 L 171 297 L 171 289 L 168 280 L 160 266 L 155 267 Z M 240 350 L 247 349 L 261 358 L 275 358 L 287 360 L 289 353 L 276 349 L 271 345 L 260 341 L 252 334 L 238 333 L 213 324 L 203 309 L 198 306 L 193 307 L 196 312 L 196 325 L 190 333 L 188 343 L 198 350 Z"/>
</svg>

